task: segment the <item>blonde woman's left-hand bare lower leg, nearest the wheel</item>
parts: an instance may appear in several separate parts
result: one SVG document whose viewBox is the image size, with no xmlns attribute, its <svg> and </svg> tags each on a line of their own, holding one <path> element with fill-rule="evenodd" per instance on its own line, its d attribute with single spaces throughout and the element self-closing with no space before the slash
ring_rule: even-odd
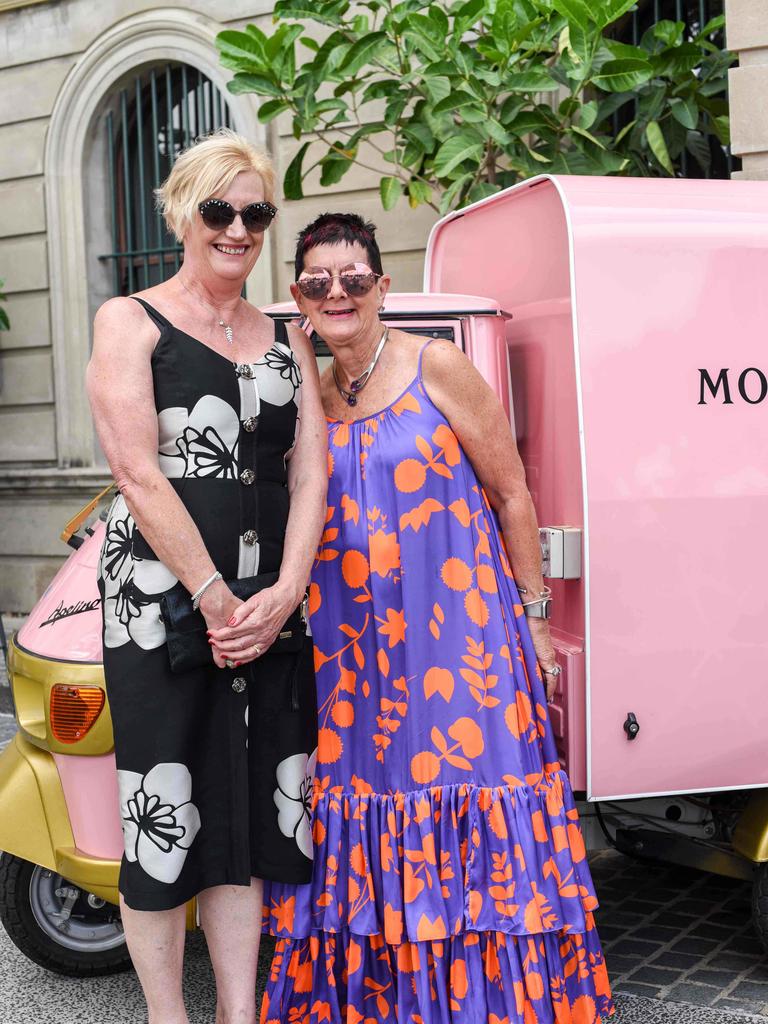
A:
<svg viewBox="0 0 768 1024">
<path fill-rule="evenodd" d="M 150 1011 L 148 1024 L 188 1024 L 181 990 L 186 907 L 132 910 L 121 896 L 120 911 Z"/>
</svg>

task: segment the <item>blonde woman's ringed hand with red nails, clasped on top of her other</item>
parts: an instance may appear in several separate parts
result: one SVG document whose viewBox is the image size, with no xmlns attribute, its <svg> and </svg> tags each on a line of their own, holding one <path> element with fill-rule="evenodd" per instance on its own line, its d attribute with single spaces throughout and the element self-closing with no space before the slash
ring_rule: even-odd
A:
<svg viewBox="0 0 768 1024">
<path fill-rule="evenodd" d="M 253 662 L 271 647 L 300 599 L 278 582 L 242 601 L 224 624 L 209 631 L 214 655 L 236 665 Z"/>
</svg>

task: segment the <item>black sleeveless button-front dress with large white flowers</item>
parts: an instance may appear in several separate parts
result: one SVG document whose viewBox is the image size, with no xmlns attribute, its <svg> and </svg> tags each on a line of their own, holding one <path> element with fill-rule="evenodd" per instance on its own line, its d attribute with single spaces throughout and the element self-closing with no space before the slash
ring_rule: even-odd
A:
<svg viewBox="0 0 768 1024">
<path fill-rule="evenodd" d="M 257 362 L 236 365 L 173 327 L 152 357 L 159 460 L 224 579 L 276 571 L 301 374 L 284 324 Z M 115 727 L 125 856 L 120 891 L 139 910 L 252 877 L 311 876 L 316 746 L 311 660 L 269 654 L 239 669 L 170 671 L 160 599 L 177 583 L 125 500 L 110 509 L 99 564 L 103 662 Z"/>
</svg>

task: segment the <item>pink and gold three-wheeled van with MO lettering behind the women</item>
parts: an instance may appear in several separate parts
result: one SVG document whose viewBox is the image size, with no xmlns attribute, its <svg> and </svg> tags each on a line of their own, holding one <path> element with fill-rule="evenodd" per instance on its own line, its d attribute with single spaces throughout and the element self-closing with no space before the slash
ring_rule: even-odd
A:
<svg viewBox="0 0 768 1024">
<path fill-rule="evenodd" d="M 555 598 L 551 716 L 588 843 L 754 878 L 756 893 L 766 280 L 768 183 L 543 175 L 440 220 L 424 292 L 390 293 L 383 313 L 459 345 L 510 418 Z M 0 888 L 3 861 L 28 865 L 38 963 L 62 973 L 76 953 L 88 973 L 126 963 L 103 526 L 89 531 L 11 642 L 19 732 L 0 755 Z"/>
</svg>

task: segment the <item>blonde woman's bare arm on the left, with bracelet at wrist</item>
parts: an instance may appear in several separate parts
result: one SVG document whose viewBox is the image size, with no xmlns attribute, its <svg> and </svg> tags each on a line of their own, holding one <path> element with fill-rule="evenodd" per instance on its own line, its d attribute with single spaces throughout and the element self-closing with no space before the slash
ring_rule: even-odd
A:
<svg viewBox="0 0 768 1024">
<path fill-rule="evenodd" d="M 86 385 L 101 447 L 129 512 L 158 558 L 191 594 L 216 566 L 158 462 L 151 364 L 156 342 L 157 328 L 138 303 L 110 299 L 94 321 Z M 222 584 L 205 598 L 201 608 L 209 625 L 226 622 L 240 604 Z"/>
</svg>

